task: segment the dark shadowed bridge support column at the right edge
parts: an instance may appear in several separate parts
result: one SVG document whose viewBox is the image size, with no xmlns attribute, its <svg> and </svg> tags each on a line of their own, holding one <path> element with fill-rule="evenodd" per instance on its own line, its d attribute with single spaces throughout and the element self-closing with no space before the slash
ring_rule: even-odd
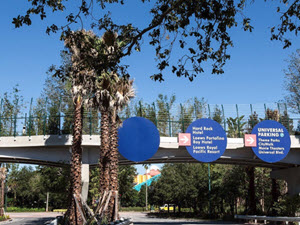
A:
<svg viewBox="0 0 300 225">
<path fill-rule="evenodd" d="M 289 169 L 273 170 L 271 178 L 285 180 L 288 184 L 288 194 L 300 194 L 300 167 L 293 167 Z"/>
</svg>

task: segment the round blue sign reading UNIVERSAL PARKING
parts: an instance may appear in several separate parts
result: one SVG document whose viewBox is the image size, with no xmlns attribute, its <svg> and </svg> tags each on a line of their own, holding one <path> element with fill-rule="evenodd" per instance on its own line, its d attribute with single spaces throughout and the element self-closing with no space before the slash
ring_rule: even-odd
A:
<svg viewBox="0 0 300 225">
<path fill-rule="evenodd" d="M 281 123 L 264 120 L 253 128 L 252 134 L 256 134 L 257 139 L 257 146 L 252 147 L 252 150 L 265 162 L 278 162 L 290 151 L 290 134 Z"/>
</svg>

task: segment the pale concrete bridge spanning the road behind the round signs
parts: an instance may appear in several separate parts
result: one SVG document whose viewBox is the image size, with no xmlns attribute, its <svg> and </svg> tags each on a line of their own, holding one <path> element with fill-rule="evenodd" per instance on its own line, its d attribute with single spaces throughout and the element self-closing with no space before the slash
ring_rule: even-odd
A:
<svg viewBox="0 0 300 225">
<path fill-rule="evenodd" d="M 29 163 L 49 166 L 66 166 L 71 159 L 72 135 L 40 135 L 0 138 L 0 162 Z M 83 135 L 82 139 L 82 196 L 87 198 L 89 166 L 99 160 L 99 135 Z M 144 162 L 132 162 L 119 156 L 120 165 L 154 163 L 199 163 L 185 147 L 178 145 L 177 137 L 161 137 L 158 151 Z M 291 136 L 291 149 L 286 158 L 267 163 L 245 147 L 243 138 L 228 138 L 226 151 L 214 163 L 236 164 L 272 168 L 271 177 L 288 183 L 290 194 L 300 193 L 300 136 Z"/>
</svg>

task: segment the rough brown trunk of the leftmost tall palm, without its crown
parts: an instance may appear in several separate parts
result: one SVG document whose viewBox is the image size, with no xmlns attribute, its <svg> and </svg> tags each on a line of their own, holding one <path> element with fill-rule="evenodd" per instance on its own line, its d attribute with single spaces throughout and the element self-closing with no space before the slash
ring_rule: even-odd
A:
<svg viewBox="0 0 300 225">
<path fill-rule="evenodd" d="M 69 190 L 69 207 L 66 217 L 69 217 L 69 224 L 81 225 L 83 219 L 80 211 L 76 206 L 74 195 L 81 206 L 81 161 L 82 161 L 82 98 L 78 97 L 75 102 L 74 112 L 74 126 L 73 126 L 73 142 L 72 142 L 72 158 L 71 158 L 71 172 L 70 172 L 70 190 Z"/>
</svg>

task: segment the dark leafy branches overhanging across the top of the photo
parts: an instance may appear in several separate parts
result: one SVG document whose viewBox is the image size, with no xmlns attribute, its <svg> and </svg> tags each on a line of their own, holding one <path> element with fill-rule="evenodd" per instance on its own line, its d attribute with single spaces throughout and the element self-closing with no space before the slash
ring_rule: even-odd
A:
<svg viewBox="0 0 300 225">
<path fill-rule="evenodd" d="M 265 0 L 266 1 L 266 0 Z M 43 20 L 49 10 L 53 12 L 66 11 L 66 0 L 28 0 L 30 8 L 23 15 L 13 19 L 16 28 L 32 24 L 32 15 L 39 15 Z M 150 0 L 140 0 L 142 3 Z M 123 0 L 82 0 L 77 11 L 71 11 L 63 25 L 52 24 L 46 32 L 62 31 L 62 35 L 70 33 L 70 26 L 82 21 L 82 17 L 93 19 L 92 28 L 99 31 L 114 31 L 119 34 L 118 41 L 124 43 L 122 51 L 117 54 L 119 59 L 128 56 L 133 50 L 140 51 L 143 37 L 150 37 L 149 44 L 156 50 L 158 72 L 152 79 L 163 81 L 163 72 L 171 67 L 178 77 L 184 76 L 191 81 L 203 72 L 203 63 L 212 61 L 212 73 L 222 74 L 225 62 L 230 59 L 227 49 L 233 46 L 229 30 L 240 26 L 245 31 L 252 31 L 250 18 L 245 17 L 242 11 L 246 0 L 156 0 L 151 5 L 151 22 L 145 27 L 138 27 L 132 23 L 118 24 L 111 15 L 105 14 L 101 18 L 94 18 L 93 9 L 105 13 L 104 9 L 112 3 L 123 5 Z M 285 11 L 282 12 L 281 6 Z M 280 0 L 277 12 L 281 13 L 280 24 L 271 28 L 271 40 L 284 42 L 284 48 L 291 45 L 286 37 L 287 32 L 297 35 L 300 30 L 297 21 L 299 15 L 299 0 Z M 242 18 L 241 20 L 239 18 Z M 182 56 L 174 65 L 170 63 L 173 46 L 179 46 Z M 126 66 L 122 67 L 122 72 Z M 126 72 L 124 72 L 126 73 Z"/>
</svg>

